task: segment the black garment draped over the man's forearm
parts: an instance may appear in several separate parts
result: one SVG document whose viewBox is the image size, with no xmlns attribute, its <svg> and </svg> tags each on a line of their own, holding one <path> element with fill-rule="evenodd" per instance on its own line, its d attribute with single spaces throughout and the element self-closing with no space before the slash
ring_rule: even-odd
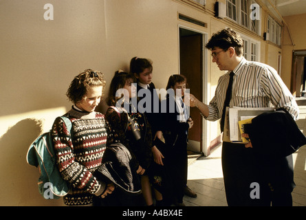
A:
<svg viewBox="0 0 306 220">
<path fill-rule="evenodd" d="M 245 124 L 245 133 L 254 150 L 264 155 L 286 157 L 306 144 L 305 135 L 285 109 L 256 116 L 252 124 Z"/>
</svg>

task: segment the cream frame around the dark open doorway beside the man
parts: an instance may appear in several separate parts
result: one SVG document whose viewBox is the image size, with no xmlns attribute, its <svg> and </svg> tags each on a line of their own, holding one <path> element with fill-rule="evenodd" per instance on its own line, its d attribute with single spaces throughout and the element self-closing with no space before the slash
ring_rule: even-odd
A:
<svg viewBox="0 0 306 220">
<path fill-rule="evenodd" d="M 189 28 L 185 25 L 178 25 L 178 28 L 177 28 L 177 32 L 178 32 L 178 47 L 179 47 L 179 29 L 180 28 L 183 28 L 183 29 L 186 29 L 186 30 L 190 30 L 190 31 L 193 31 L 193 32 L 197 32 L 199 34 L 202 34 L 202 100 L 200 100 L 201 102 L 204 102 L 204 103 L 208 103 L 208 99 L 209 99 L 209 88 L 208 88 L 208 50 L 206 49 L 205 45 L 206 43 L 208 42 L 208 33 L 207 32 L 204 32 L 204 31 L 201 31 L 201 30 L 197 30 L 195 28 Z M 179 49 L 179 53 L 180 53 L 180 48 Z M 181 65 L 181 61 L 180 61 L 180 54 L 178 56 L 178 60 L 179 60 L 179 73 L 181 72 L 180 71 L 180 65 Z M 209 154 L 209 146 L 210 146 L 210 140 L 208 137 L 210 137 L 210 127 L 209 127 L 209 122 L 207 122 L 207 120 L 202 120 L 202 131 L 201 131 L 201 146 L 197 147 L 200 149 L 200 152 L 199 153 L 203 153 L 205 156 L 208 156 Z M 193 143 L 193 144 L 197 144 L 197 143 Z M 195 150 L 196 151 L 196 150 Z"/>
</svg>

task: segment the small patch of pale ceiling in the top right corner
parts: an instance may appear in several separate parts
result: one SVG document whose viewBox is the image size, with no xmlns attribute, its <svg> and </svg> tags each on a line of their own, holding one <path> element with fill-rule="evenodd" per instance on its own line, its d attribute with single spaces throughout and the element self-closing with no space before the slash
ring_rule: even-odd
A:
<svg viewBox="0 0 306 220">
<path fill-rule="evenodd" d="M 264 2 L 272 12 L 274 12 L 274 8 L 270 2 L 274 4 L 282 17 L 306 13 L 306 0 L 265 0 Z"/>
</svg>

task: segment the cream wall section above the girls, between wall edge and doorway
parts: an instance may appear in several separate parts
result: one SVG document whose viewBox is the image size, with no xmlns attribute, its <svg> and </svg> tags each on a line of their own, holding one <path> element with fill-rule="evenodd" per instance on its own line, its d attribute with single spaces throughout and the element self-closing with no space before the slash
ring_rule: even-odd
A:
<svg viewBox="0 0 306 220">
<path fill-rule="evenodd" d="M 153 61 L 153 83 L 166 87 L 178 73 L 177 5 L 173 1 L 106 1 L 110 73 L 129 72 L 134 56 Z M 163 76 L 163 77 L 160 77 Z"/>
</svg>

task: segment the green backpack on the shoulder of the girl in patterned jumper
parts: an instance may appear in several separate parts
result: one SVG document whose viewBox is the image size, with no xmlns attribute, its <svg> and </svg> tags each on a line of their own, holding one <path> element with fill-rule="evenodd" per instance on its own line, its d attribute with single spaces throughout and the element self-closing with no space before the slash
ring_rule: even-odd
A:
<svg viewBox="0 0 306 220">
<path fill-rule="evenodd" d="M 72 131 L 72 122 L 69 118 L 61 116 L 68 131 Z M 39 135 L 32 142 L 27 153 L 27 162 L 39 168 L 39 193 L 45 199 L 59 199 L 67 195 L 69 184 L 63 179 L 56 164 L 56 154 L 52 141 L 52 131 Z"/>
</svg>

